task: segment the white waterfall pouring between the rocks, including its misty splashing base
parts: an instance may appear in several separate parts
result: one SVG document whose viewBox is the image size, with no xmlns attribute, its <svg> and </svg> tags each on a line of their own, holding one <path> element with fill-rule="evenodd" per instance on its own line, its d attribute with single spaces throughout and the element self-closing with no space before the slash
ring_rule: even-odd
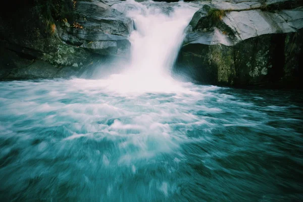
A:
<svg viewBox="0 0 303 202">
<path fill-rule="evenodd" d="M 123 92 L 176 91 L 179 85 L 170 74 L 184 39 L 184 30 L 196 8 L 184 2 L 163 4 L 128 0 L 113 6 L 134 20 L 130 35 L 131 62 L 112 75 L 109 89 Z"/>
</svg>

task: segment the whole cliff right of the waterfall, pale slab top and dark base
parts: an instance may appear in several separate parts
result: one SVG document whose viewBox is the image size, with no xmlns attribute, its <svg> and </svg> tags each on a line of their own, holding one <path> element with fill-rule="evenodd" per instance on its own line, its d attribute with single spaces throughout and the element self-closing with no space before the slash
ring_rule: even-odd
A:
<svg viewBox="0 0 303 202">
<path fill-rule="evenodd" d="M 187 28 L 177 72 L 222 85 L 299 86 L 303 2 L 212 1 Z"/>
</svg>

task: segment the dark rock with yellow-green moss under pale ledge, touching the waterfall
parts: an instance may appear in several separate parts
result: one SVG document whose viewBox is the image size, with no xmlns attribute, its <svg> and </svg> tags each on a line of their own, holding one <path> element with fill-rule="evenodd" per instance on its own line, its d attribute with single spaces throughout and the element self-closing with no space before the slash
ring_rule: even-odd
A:
<svg viewBox="0 0 303 202">
<path fill-rule="evenodd" d="M 233 48 L 216 44 L 189 44 L 182 48 L 175 71 L 206 84 L 232 84 Z"/>
</svg>

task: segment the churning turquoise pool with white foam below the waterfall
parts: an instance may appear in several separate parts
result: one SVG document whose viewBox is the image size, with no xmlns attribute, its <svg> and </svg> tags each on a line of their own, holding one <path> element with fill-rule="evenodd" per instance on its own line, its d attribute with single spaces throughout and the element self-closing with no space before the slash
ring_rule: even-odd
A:
<svg viewBox="0 0 303 202">
<path fill-rule="evenodd" d="M 300 201 L 301 91 L 0 83 L 0 201 Z"/>
</svg>

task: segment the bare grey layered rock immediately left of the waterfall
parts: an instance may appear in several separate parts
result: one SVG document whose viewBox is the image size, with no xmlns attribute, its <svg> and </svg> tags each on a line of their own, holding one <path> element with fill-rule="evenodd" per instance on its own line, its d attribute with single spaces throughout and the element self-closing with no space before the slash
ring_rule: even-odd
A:
<svg viewBox="0 0 303 202">
<path fill-rule="evenodd" d="M 77 11 L 83 29 L 65 28 L 62 40 L 102 55 L 128 56 L 128 36 L 133 29 L 130 18 L 98 1 L 80 1 Z"/>
</svg>

